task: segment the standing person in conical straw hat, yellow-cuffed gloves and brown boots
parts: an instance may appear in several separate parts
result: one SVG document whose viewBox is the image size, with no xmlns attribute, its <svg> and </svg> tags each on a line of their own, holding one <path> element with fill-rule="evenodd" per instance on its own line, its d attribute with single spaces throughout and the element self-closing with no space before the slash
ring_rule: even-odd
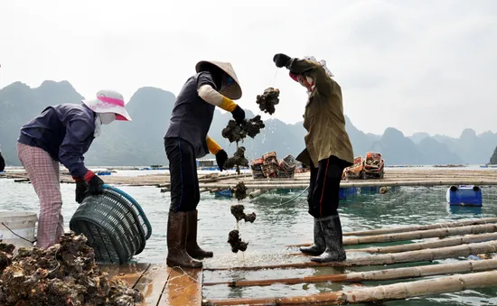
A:
<svg viewBox="0 0 497 306">
<path fill-rule="evenodd" d="M 167 264 L 201 267 L 195 259 L 212 257 L 197 244 L 197 205 L 200 201 L 196 159 L 216 156 L 220 171 L 228 154 L 208 135 L 215 107 L 229 111 L 237 123 L 245 112 L 233 100 L 241 97 L 239 79 L 228 62 L 202 60 L 186 80 L 173 107 L 164 136 L 169 160 L 171 206 L 167 221 Z"/>
</svg>

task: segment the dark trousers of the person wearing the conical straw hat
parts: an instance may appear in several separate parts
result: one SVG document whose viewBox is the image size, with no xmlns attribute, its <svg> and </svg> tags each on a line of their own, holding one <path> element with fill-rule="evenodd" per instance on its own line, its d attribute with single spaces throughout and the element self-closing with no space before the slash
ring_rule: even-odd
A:
<svg viewBox="0 0 497 306">
<path fill-rule="evenodd" d="M 171 207 L 174 212 L 197 209 L 201 199 L 197 162 L 192 144 L 182 138 L 165 138 L 169 160 Z"/>
</svg>

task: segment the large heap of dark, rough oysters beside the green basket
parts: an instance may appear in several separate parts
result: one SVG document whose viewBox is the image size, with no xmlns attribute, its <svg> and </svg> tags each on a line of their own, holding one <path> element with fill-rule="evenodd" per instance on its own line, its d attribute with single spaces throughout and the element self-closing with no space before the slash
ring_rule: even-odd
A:
<svg viewBox="0 0 497 306">
<path fill-rule="evenodd" d="M 134 306 L 142 293 L 101 273 L 87 238 L 73 232 L 48 249 L 0 243 L 0 305 Z"/>
</svg>

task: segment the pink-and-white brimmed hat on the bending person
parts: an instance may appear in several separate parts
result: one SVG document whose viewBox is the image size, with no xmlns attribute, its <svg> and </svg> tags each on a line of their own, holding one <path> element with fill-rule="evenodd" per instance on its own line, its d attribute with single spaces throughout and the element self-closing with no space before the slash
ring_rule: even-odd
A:
<svg viewBox="0 0 497 306">
<path fill-rule="evenodd" d="M 117 91 L 100 90 L 97 97 L 89 100 L 82 100 L 89 109 L 95 113 L 114 113 L 116 120 L 131 121 L 131 116 L 127 114 L 124 98 Z"/>
</svg>

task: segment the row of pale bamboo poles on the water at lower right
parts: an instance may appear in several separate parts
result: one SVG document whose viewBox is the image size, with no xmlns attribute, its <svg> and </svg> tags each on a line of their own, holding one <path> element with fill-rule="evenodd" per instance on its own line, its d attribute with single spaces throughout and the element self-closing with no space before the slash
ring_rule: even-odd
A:
<svg viewBox="0 0 497 306">
<path fill-rule="evenodd" d="M 257 287 L 273 284 L 298 283 L 343 283 L 350 289 L 334 292 L 321 292 L 300 296 L 276 296 L 254 298 L 210 299 L 204 297 L 202 305 L 342 305 L 368 302 L 403 300 L 413 297 L 460 292 L 467 289 L 497 287 L 497 219 L 478 218 L 427 226 L 381 228 L 349 232 L 344 236 L 346 245 L 365 245 L 362 248 L 348 248 L 351 256 L 344 262 L 316 264 L 300 254 L 302 261 L 297 263 L 263 264 L 255 266 L 204 267 L 203 271 L 260 271 L 300 269 L 308 267 L 347 267 L 338 269 L 339 274 L 320 274 L 302 277 L 248 279 L 237 274 L 237 280 L 225 279 L 221 282 L 206 280 L 203 286 L 224 285 L 235 287 Z M 419 239 L 430 239 L 421 240 Z M 414 242 L 413 240 L 417 240 Z M 394 246 L 368 246 L 370 243 L 400 242 Z M 308 245 L 308 244 L 305 244 Z M 289 246 L 295 251 L 295 246 Z M 469 255 L 479 255 L 479 259 L 463 259 Z M 463 257 L 463 258 L 462 258 Z M 452 262 L 433 263 L 435 260 L 458 258 Z M 394 264 L 413 264 L 395 267 Z M 370 271 L 355 272 L 354 266 L 377 266 Z M 277 274 L 277 272 L 275 273 Z M 435 278 L 433 276 L 436 276 Z M 428 277 L 428 278 L 427 278 Z M 395 281 L 396 283 L 367 286 L 363 282 Z M 352 284 L 359 286 L 353 286 Z M 276 291 L 276 290 L 275 290 Z"/>
</svg>

